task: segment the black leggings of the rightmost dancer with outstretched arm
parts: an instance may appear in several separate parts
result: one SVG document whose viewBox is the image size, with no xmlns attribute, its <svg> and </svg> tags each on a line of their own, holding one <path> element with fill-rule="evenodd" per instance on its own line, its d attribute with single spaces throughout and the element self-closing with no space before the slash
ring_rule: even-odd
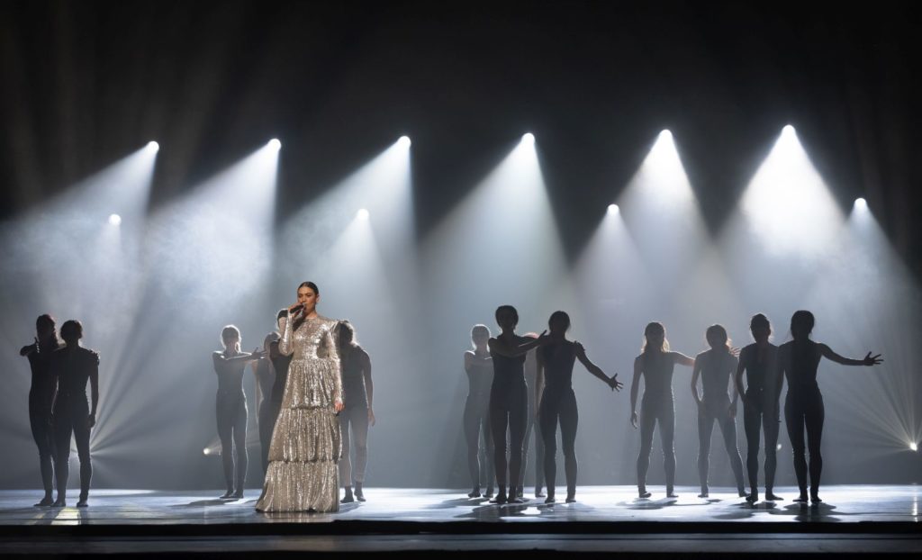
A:
<svg viewBox="0 0 922 560">
<path fill-rule="evenodd" d="M 787 390 L 785 399 L 785 423 L 787 436 L 791 439 L 794 453 L 794 472 L 798 476 L 801 495 L 807 494 L 807 456 L 804 447 L 804 427 L 807 428 L 807 448 L 810 449 L 810 494 L 820 493 L 822 474 L 822 422 L 826 412 L 822 406 L 820 388 Z"/>
</svg>

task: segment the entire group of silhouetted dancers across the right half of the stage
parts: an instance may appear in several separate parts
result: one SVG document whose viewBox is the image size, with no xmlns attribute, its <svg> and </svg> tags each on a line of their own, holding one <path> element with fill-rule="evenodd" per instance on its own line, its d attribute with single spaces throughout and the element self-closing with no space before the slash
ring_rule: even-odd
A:
<svg viewBox="0 0 922 560">
<path fill-rule="evenodd" d="M 712 325 L 705 333 L 710 350 L 703 351 L 694 358 L 669 349 L 666 328 L 661 323 L 649 323 L 644 328 L 644 348 L 634 359 L 631 383 L 631 423 L 634 428 L 640 428 L 641 436 L 640 453 L 637 456 L 637 492 L 640 498 L 645 499 L 652 495 L 646 487 L 646 474 L 650 466 L 653 435 L 657 425 L 663 446 L 666 494 L 668 497 L 677 497 L 672 375 L 675 366 L 679 364 L 693 368 L 691 393 L 698 405 L 700 444 L 699 497 L 709 495 L 707 481 L 711 436 L 714 424 L 717 423 L 724 437 L 724 446 L 736 478 L 739 496 L 745 497 L 750 503 L 759 500 L 759 447 L 764 434 L 765 499 L 782 499 L 774 494 L 774 472 L 777 464 L 775 446 L 781 422 L 779 402 L 786 381 L 788 388 L 784 418 L 794 454 L 794 471 L 799 489 L 795 501 L 807 503 L 809 500 L 814 504 L 822 502 L 820 448 L 824 410 L 822 393 L 817 383 L 820 361 L 826 358 L 843 365 L 870 366 L 882 363 L 882 360 L 880 354 L 871 355 L 871 352 L 863 359 L 845 358 L 826 344 L 810 340 L 814 322 L 810 311 L 796 312 L 791 317 L 790 330 L 793 340 L 779 347 L 769 341 L 772 326 L 768 317 L 757 314 L 752 316 L 750 323 L 752 338 L 755 341 L 741 351 L 730 346 L 726 328 Z M 545 497 L 546 504 L 556 501 L 555 454 L 557 427 L 560 425 L 563 468 L 567 484 L 566 502 L 574 502 L 577 474 L 575 441 L 579 412 L 573 392 L 573 365 L 579 360 L 590 374 L 595 375 L 612 390 L 620 391 L 623 386 L 618 381 L 617 374 L 609 377 L 589 360 L 582 344 L 567 340 L 570 316 L 562 311 L 554 312 L 550 316 L 550 333 L 545 330 L 540 335 L 529 333 L 522 337 L 515 334 L 518 313 L 511 305 L 502 305 L 496 310 L 496 323 L 501 332 L 495 338 L 491 338 L 490 329 L 484 325 L 472 328 L 471 340 L 474 349 L 465 353 L 469 391 L 464 425 L 468 469 L 473 483 L 473 489 L 467 495 L 472 498 L 486 495 L 491 497 L 491 503 L 495 504 L 524 503 L 526 441 L 532 430 L 537 408 L 538 465 L 535 497 Z M 529 375 L 526 375 L 526 371 Z M 533 380 L 534 399 L 529 399 L 526 376 Z M 699 379 L 703 393 L 699 392 Z M 637 398 L 641 380 L 644 382 L 644 396 L 638 413 Z M 733 393 L 732 400 L 727 392 L 730 387 Z M 739 399 L 743 401 L 743 419 L 748 445 L 746 463 L 751 488 L 749 493 L 745 489 L 742 459 L 737 448 L 736 415 Z M 481 432 L 483 447 L 480 446 Z M 481 494 L 481 454 L 486 456 L 484 494 Z M 542 474 L 547 494 L 542 492 Z M 492 488 L 494 475 L 497 485 L 495 497 Z"/>
</svg>

